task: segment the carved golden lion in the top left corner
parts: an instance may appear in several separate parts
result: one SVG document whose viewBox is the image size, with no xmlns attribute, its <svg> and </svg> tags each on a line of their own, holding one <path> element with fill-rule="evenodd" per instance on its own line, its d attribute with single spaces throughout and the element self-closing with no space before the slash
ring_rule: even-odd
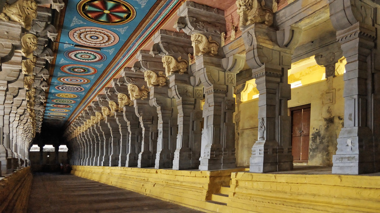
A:
<svg viewBox="0 0 380 213">
<path fill-rule="evenodd" d="M 18 0 L 13 4 L 5 3 L 0 19 L 16 21 L 30 30 L 32 21 L 37 17 L 37 3 L 34 0 Z"/>
</svg>

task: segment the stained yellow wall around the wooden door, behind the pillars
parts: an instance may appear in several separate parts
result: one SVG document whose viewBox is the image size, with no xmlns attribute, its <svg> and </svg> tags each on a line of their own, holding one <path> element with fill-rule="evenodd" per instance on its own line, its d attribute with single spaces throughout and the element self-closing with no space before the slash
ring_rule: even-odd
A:
<svg viewBox="0 0 380 213">
<path fill-rule="evenodd" d="M 292 89 L 288 107 L 311 104 L 308 165 L 331 166 L 343 125 L 343 75 Z M 236 164 L 249 166 L 251 148 L 257 140 L 258 99 L 237 103 Z"/>
</svg>

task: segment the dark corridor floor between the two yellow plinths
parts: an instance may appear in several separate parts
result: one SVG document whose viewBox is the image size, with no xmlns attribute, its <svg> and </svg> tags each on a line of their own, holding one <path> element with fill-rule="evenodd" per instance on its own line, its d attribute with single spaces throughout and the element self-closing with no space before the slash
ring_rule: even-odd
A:
<svg viewBox="0 0 380 213">
<path fill-rule="evenodd" d="M 34 173 L 28 213 L 200 213 L 74 175 Z"/>
</svg>

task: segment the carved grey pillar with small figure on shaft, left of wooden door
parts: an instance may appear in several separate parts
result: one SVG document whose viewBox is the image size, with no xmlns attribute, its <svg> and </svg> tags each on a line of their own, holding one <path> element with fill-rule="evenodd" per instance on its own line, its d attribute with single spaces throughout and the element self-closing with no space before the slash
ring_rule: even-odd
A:
<svg viewBox="0 0 380 213">
<path fill-rule="evenodd" d="M 262 5 L 253 8 L 240 0 L 236 3 L 247 52 L 246 61 L 259 90 L 258 140 L 252 147 L 249 171 L 292 170 L 291 120 L 287 115 L 291 89 L 287 70 L 291 66 L 292 51 L 298 43 L 297 36 L 290 28 L 275 31 L 270 27 L 276 5 L 267 9 Z"/>
</svg>

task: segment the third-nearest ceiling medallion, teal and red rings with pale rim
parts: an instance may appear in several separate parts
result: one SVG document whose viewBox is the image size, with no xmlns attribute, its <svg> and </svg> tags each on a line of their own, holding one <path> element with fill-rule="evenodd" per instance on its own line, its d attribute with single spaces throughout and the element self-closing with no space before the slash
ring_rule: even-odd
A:
<svg viewBox="0 0 380 213">
<path fill-rule="evenodd" d="M 107 59 L 105 54 L 90 50 L 68 50 L 65 52 L 65 57 L 74 61 L 92 63 L 102 62 Z"/>
</svg>

